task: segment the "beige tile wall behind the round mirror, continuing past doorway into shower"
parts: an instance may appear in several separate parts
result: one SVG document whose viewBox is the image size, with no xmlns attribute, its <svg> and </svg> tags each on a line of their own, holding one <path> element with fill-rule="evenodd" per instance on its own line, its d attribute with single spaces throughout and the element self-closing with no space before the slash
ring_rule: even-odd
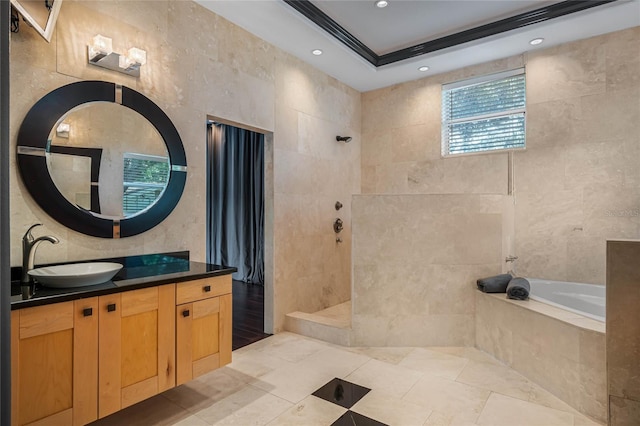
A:
<svg viewBox="0 0 640 426">
<path fill-rule="evenodd" d="M 147 51 L 135 79 L 89 66 L 86 45 L 95 34 L 113 38 L 114 50 Z M 11 36 L 11 135 L 29 108 L 49 91 L 98 79 L 134 88 L 172 119 L 187 154 L 185 192 L 158 227 L 122 240 L 68 230 L 26 193 L 11 153 L 11 264 L 19 265 L 20 238 L 30 224 L 60 238 L 41 246 L 36 262 L 190 250 L 205 259 L 205 152 L 207 116 L 263 129 L 274 194 L 273 229 L 266 256 L 268 293 L 275 295 L 273 329 L 291 311 L 315 311 L 350 297 L 350 226 L 335 244 L 333 205 L 350 223 L 350 197 L 360 190 L 360 94 L 263 40 L 187 1 L 74 1 L 63 3 L 47 44 L 27 25 Z M 353 137 L 338 144 L 336 134 Z M 14 149 L 14 148 L 13 148 Z M 275 280 L 274 280 L 275 277 Z M 268 308 L 270 309 L 270 308 Z"/>
</svg>

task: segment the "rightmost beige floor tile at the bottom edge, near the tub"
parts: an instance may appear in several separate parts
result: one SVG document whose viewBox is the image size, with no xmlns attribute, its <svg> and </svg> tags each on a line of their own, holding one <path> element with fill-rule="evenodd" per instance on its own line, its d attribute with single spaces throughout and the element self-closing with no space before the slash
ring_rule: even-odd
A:
<svg viewBox="0 0 640 426">
<path fill-rule="evenodd" d="M 492 393 L 477 423 L 480 426 L 573 426 L 573 415 Z"/>
</svg>

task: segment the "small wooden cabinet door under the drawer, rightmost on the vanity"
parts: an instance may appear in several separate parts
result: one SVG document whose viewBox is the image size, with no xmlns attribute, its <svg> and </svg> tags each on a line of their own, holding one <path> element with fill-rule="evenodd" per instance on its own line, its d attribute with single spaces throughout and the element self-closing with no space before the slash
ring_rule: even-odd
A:
<svg viewBox="0 0 640 426">
<path fill-rule="evenodd" d="M 231 362 L 231 319 L 231 294 L 176 307 L 177 385 Z"/>
</svg>

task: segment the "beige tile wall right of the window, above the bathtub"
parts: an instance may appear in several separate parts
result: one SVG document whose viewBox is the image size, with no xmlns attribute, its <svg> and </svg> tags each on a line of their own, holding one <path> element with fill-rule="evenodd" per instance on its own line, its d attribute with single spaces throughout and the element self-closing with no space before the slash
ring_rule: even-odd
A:
<svg viewBox="0 0 640 426">
<path fill-rule="evenodd" d="M 640 28 L 537 51 L 526 66 L 520 271 L 604 284 L 606 239 L 640 235 Z"/>
</svg>

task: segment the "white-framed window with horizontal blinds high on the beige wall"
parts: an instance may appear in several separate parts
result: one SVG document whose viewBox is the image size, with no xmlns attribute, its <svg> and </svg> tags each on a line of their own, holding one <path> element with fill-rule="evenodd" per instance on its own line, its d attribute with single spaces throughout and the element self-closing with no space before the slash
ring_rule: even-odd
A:
<svg viewBox="0 0 640 426">
<path fill-rule="evenodd" d="M 525 147 L 524 69 L 442 86 L 442 155 Z"/>
</svg>

